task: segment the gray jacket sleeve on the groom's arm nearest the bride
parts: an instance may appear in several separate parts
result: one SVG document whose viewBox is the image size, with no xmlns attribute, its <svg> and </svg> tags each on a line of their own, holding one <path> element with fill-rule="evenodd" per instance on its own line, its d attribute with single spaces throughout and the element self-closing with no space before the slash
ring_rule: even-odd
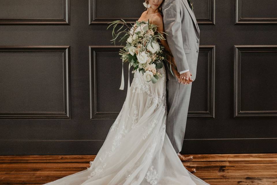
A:
<svg viewBox="0 0 277 185">
<path fill-rule="evenodd" d="M 166 40 L 175 58 L 178 72 L 189 69 L 185 51 L 183 49 L 183 38 L 181 32 L 181 16 L 179 0 L 165 1 L 162 6 L 164 31 Z"/>
</svg>

